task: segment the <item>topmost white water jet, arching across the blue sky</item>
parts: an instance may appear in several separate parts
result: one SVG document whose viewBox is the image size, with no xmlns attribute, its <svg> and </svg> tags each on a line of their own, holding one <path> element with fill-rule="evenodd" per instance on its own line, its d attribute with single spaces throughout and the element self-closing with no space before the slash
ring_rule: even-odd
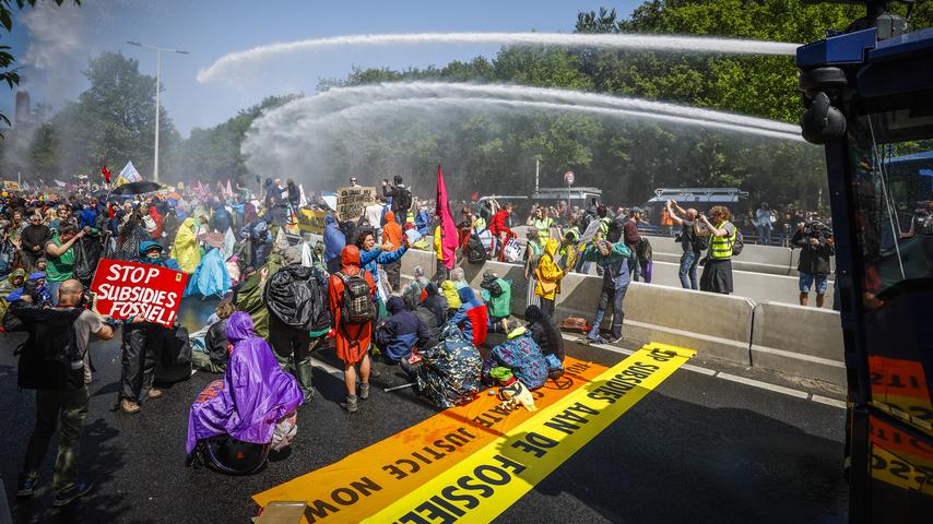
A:
<svg viewBox="0 0 933 524">
<path fill-rule="evenodd" d="M 198 82 L 213 82 L 232 76 L 239 68 L 279 55 L 315 51 L 340 46 L 418 45 L 418 44 L 504 44 L 546 45 L 559 47 L 595 47 L 604 49 L 658 49 L 684 52 L 724 52 L 739 55 L 793 56 L 799 44 L 783 41 L 708 38 L 676 35 L 581 33 L 416 33 L 390 35 L 349 35 L 312 38 L 253 47 L 221 57 L 198 72 Z"/>
</svg>

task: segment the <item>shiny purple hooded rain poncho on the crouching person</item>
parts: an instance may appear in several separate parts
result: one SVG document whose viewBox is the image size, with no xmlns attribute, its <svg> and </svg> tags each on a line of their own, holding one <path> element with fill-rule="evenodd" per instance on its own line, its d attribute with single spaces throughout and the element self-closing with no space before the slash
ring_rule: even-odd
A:
<svg viewBox="0 0 933 524">
<path fill-rule="evenodd" d="M 252 331 L 252 319 L 238 311 L 227 320 L 234 345 L 224 380 L 208 385 L 191 404 L 186 451 L 198 440 L 229 434 L 244 442 L 272 441 L 275 424 L 298 407 L 304 396 L 298 382 L 282 371 L 272 348 Z"/>
</svg>

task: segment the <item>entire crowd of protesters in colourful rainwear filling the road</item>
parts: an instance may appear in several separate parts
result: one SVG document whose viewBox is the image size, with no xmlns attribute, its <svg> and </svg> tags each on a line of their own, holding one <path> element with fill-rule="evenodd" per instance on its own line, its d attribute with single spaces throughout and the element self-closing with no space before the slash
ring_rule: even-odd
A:
<svg viewBox="0 0 933 524">
<path fill-rule="evenodd" d="M 357 186 L 356 179 L 350 184 Z M 361 409 L 370 395 L 370 378 L 385 366 L 399 366 L 440 407 L 469 402 L 492 384 L 500 385 L 503 394 L 524 397 L 522 392 L 563 373 L 555 303 L 567 274 L 594 271 L 602 279 L 592 323 L 582 322 L 586 341 L 597 344 L 622 338 L 628 285 L 650 283 L 652 276 L 651 245 L 643 235 L 651 227 L 647 213 L 611 209 L 595 199 L 584 209 L 566 202 L 534 205 L 525 217 L 495 199 L 462 203 L 456 229 L 445 231 L 435 203 L 416 201 L 401 177 L 382 180 L 380 194 L 353 221 L 341 221 L 322 199 L 306 196 L 292 180 L 267 179 L 256 194 L 234 191 L 229 183 L 217 190 L 199 182 L 121 196 L 109 189 L 0 198 L 0 276 L 5 277 L 0 312 L 5 331 L 28 334 L 20 358 L 21 386 L 37 390 L 36 429 L 17 493 L 34 492 L 42 457 L 60 425 L 57 505 L 90 489 L 79 479 L 76 464 L 87 384 L 94 380 L 93 336 L 121 337 L 116 404 L 127 415 L 166 394 L 155 385 L 161 380 L 156 361 L 166 352 L 186 370 L 174 380 L 187 378 L 192 368 L 223 374 L 191 406 L 189 464 L 249 473 L 294 439 L 296 410 L 315 397 L 315 350 L 332 346 L 343 362 L 346 396 L 340 405 L 347 413 Z M 298 235 L 302 209 L 327 212 L 319 240 L 303 241 Z M 519 226 L 524 226 L 523 238 Z M 741 236 L 728 209 L 713 206 L 706 216 L 671 201 L 659 226 L 663 233 L 680 231 L 684 287 L 732 293 L 731 259 L 741 249 Z M 822 306 L 826 279 L 819 275 L 831 240 L 819 227 L 800 231 L 791 241 L 812 251 L 807 273 Z M 442 237 L 451 234 L 457 249 L 446 254 Z M 409 249 L 430 250 L 430 236 L 437 252 L 434 274 L 417 266 L 403 287 L 401 258 Z M 86 293 L 104 258 L 187 273 L 186 296 L 215 296 L 221 302 L 190 334 L 177 323 L 105 317 Z M 462 264 L 487 260 L 522 264 L 527 325 L 512 320 L 512 282 L 492 270 L 483 274 L 479 294 L 466 282 Z M 600 325 L 610 308 L 605 340 Z M 76 327 L 49 334 L 39 329 L 48 322 Z M 489 333 L 506 338 L 484 361 L 480 348 Z M 67 355 L 55 362 L 48 352 L 35 349 L 59 346 Z M 35 380 L 36 367 L 43 366 L 60 368 L 57 381 Z"/>
</svg>

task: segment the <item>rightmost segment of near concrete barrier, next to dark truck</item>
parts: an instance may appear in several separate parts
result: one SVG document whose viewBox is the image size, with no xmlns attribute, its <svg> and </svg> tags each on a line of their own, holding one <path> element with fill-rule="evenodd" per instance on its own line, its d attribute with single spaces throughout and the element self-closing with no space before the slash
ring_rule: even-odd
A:
<svg viewBox="0 0 933 524">
<path fill-rule="evenodd" d="M 842 385 L 843 352 L 838 312 L 776 302 L 755 306 L 754 367 Z"/>
</svg>

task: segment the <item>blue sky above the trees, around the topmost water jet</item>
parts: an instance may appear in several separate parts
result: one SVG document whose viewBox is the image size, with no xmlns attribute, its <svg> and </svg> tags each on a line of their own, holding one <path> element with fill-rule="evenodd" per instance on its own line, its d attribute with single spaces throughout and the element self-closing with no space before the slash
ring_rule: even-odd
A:
<svg viewBox="0 0 933 524">
<path fill-rule="evenodd" d="M 69 0 L 66 0 L 69 2 Z M 154 51 L 126 44 L 137 40 L 188 50 L 165 55 L 162 103 L 184 135 L 215 126 L 263 96 L 314 93 L 321 79 L 344 78 L 356 67 L 405 69 L 477 55 L 495 56 L 499 46 L 425 45 L 347 47 L 296 53 L 257 64 L 237 85 L 198 83 L 199 70 L 222 56 L 255 46 L 341 35 L 421 32 L 560 32 L 574 29 L 579 11 L 615 7 L 628 15 L 635 0 L 83 0 L 82 7 L 38 8 L 14 14 L 12 33 L 0 40 L 12 47 L 33 105 L 56 108 L 87 88 L 81 72 L 102 51 L 139 59 L 155 74 Z M 14 92 L 0 86 L 0 109 L 12 118 Z"/>
</svg>

